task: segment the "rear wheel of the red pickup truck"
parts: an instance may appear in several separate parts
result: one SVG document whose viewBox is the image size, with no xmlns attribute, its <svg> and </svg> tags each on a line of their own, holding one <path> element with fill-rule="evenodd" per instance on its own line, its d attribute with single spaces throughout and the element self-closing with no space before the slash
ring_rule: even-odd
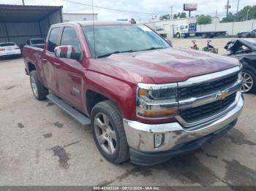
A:
<svg viewBox="0 0 256 191">
<path fill-rule="evenodd" d="M 41 84 L 41 82 L 39 82 L 36 70 L 30 72 L 30 85 L 34 98 L 37 100 L 46 99 L 46 95 L 48 95 L 49 91 Z"/>
</svg>

